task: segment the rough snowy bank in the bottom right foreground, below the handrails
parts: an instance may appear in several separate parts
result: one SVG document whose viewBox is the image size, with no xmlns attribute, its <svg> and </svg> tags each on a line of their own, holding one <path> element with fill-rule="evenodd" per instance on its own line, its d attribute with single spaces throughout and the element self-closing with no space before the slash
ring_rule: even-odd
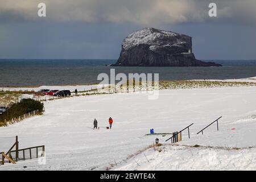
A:
<svg viewBox="0 0 256 182">
<path fill-rule="evenodd" d="M 114 170 L 255 170 L 256 148 L 163 146 L 151 148 Z"/>
</svg>

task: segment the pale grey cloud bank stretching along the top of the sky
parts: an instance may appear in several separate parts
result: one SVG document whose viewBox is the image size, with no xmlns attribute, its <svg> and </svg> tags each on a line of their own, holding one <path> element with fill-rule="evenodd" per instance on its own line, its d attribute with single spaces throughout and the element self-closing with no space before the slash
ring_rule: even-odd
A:
<svg viewBox="0 0 256 182">
<path fill-rule="evenodd" d="M 0 20 L 37 20 L 37 5 L 47 5 L 52 21 L 161 23 L 256 22 L 256 1 L 217 0 L 218 17 L 210 19 L 210 0 L 0 0 Z M 4 18 L 2 18 L 4 17 Z"/>
</svg>

